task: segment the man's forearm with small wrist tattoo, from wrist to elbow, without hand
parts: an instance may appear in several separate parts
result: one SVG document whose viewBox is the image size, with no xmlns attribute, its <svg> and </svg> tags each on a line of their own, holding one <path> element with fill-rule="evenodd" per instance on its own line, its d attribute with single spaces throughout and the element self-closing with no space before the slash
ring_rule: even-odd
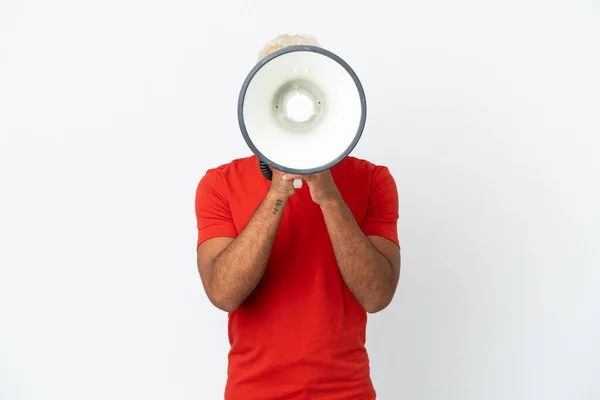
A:
<svg viewBox="0 0 600 400">
<path fill-rule="evenodd" d="M 237 309 L 262 278 L 285 204 L 285 198 L 269 192 L 246 227 L 213 261 L 211 297 L 226 311 Z"/>
</svg>

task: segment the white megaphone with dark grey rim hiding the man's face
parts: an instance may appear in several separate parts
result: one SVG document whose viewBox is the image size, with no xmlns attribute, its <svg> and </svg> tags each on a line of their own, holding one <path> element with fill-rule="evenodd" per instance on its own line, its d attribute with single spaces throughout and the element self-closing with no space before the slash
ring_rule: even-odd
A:
<svg viewBox="0 0 600 400">
<path fill-rule="evenodd" d="M 238 99 L 242 135 L 267 179 L 271 168 L 306 175 L 338 164 L 360 140 L 366 117 L 356 73 L 316 46 L 288 46 L 263 58 Z"/>
</svg>

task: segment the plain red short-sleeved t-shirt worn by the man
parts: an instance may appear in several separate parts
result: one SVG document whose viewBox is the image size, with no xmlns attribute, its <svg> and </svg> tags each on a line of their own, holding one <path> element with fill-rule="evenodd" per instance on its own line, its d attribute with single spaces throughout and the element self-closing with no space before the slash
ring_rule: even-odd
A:
<svg viewBox="0 0 600 400">
<path fill-rule="evenodd" d="M 398 193 L 389 170 L 346 157 L 331 173 L 364 234 L 398 244 Z M 207 171 L 196 193 L 198 245 L 235 238 L 269 186 L 255 156 Z M 260 283 L 229 314 L 225 399 L 375 399 L 366 323 L 304 183 L 284 208 Z"/>
</svg>

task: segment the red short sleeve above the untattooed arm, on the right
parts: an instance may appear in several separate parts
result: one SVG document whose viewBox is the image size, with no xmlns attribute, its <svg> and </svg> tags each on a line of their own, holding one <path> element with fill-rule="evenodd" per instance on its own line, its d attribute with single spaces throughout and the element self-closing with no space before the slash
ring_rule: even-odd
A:
<svg viewBox="0 0 600 400">
<path fill-rule="evenodd" d="M 361 228 L 367 236 L 382 236 L 400 246 L 398 189 L 390 171 L 378 166 L 371 176 L 371 193 Z"/>
</svg>

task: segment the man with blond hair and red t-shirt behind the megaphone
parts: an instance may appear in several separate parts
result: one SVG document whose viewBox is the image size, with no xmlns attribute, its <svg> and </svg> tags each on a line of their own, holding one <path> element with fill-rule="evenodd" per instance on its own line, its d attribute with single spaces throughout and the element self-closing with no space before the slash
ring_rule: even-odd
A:
<svg viewBox="0 0 600 400">
<path fill-rule="evenodd" d="M 259 58 L 315 43 L 283 35 Z M 257 157 L 237 159 L 202 177 L 196 216 L 204 290 L 229 313 L 225 399 L 375 399 L 367 313 L 392 301 L 400 275 L 389 170 L 346 157 L 269 181 Z"/>
</svg>

